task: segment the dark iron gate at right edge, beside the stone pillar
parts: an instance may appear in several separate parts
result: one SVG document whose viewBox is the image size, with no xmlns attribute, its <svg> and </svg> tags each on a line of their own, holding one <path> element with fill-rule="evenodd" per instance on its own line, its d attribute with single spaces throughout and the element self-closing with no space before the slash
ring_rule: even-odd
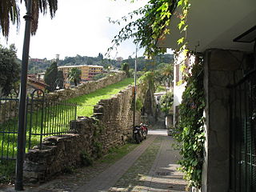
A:
<svg viewBox="0 0 256 192">
<path fill-rule="evenodd" d="M 230 191 L 256 191 L 256 71 L 232 89 Z"/>
</svg>

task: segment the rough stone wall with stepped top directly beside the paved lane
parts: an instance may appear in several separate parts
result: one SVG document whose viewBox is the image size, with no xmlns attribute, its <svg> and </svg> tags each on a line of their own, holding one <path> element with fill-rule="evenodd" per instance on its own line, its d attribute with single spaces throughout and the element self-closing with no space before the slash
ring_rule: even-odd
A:
<svg viewBox="0 0 256 192">
<path fill-rule="evenodd" d="M 145 102 L 148 83 L 140 83 L 138 98 Z M 112 147 L 122 146 L 132 134 L 133 86 L 94 106 L 94 117 L 79 117 L 70 123 L 74 134 L 46 138 L 42 150 L 35 146 L 26 154 L 24 176 L 30 182 L 44 182 L 61 171 L 85 164 L 84 155 L 95 159 Z M 136 124 L 141 112 L 136 112 Z M 83 156 L 82 156 L 83 154 Z M 83 158 L 82 158 L 83 157 Z"/>
</svg>

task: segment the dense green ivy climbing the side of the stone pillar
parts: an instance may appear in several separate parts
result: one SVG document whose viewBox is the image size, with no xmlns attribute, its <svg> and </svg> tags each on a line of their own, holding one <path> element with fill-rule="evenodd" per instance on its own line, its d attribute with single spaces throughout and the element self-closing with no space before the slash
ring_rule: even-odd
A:
<svg viewBox="0 0 256 192">
<path fill-rule="evenodd" d="M 202 182 L 204 108 L 202 58 L 196 57 L 191 73 L 186 77 L 186 90 L 179 106 L 178 132 L 174 136 L 181 144 L 181 170 L 185 172 L 190 186 L 196 187 L 201 187 Z"/>
</svg>

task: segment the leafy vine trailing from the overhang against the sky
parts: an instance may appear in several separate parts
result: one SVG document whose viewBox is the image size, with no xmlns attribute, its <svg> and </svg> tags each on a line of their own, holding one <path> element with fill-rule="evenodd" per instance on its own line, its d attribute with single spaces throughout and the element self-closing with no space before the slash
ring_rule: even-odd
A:
<svg viewBox="0 0 256 192">
<path fill-rule="evenodd" d="M 158 39 L 165 38 L 166 34 L 170 34 L 168 28 L 170 18 L 178 6 L 182 6 L 182 13 L 175 15 L 175 17 L 180 18 L 178 29 L 181 32 L 186 32 L 186 16 L 190 8 L 189 0 L 150 0 L 146 6 L 134 10 L 120 20 L 110 18 L 110 23 L 121 25 L 122 22 L 125 22 L 126 24 L 114 36 L 113 45 L 108 49 L 108 53 L 129 38 L 134 38 L 134 44 L 138 44 L 140 48 L 145 48 L 145 55 L 149 58 L 165 53 L 166 48 L 158 47 L 157 42 Z M 133 20 L 134 18 L 137 19 Z M 185 48 L 185 42 L 186 37 L 182 37 L 178 39 L 177 43 L 184 45 L 182 47 Z"/>
</svg>

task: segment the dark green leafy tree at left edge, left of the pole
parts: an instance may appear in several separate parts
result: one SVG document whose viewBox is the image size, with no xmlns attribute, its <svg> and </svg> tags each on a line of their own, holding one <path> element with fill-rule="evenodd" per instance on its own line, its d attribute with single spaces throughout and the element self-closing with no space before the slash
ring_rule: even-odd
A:
<svg viewBox="0 0 256 192">
<path fill-rule="evenodd" d="M 16 55 L 16 48 L 4 48 L 0 45 L 0 96 L 9 95 L 18 85 L 20 65 Z"/>
</svg>

